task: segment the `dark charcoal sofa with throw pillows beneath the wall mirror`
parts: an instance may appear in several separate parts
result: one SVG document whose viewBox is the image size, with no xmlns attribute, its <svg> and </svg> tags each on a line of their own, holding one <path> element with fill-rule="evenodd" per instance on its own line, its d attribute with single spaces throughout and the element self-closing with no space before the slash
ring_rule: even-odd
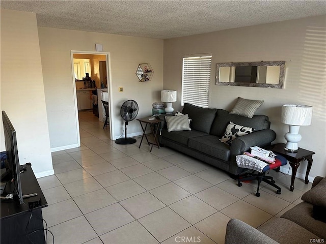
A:
<svg viewBox="0 0 326 244">
<path fill-rule="evenodd" d="M 184 154 L 192 156 L 233 175 L 241 173 L 235 156 L 243 154 L 251 146 L 270 145 L 276 138 L 276 133 L 270 130 L 270 122 L 265 115 L 254 115 L 252 118 L 230 114 L 223 109 L 201 108 L 185 103 L 182 114 L 188 114 L 192 119 L 191 131 L 170 131 L 166 123 L 161 124 L 158 137 L 159 143 Z M 166 115 L 160 115 L 164 119 Z M 254 131 L 250 134 L 237 137 L 231 145 L 221 142 L 229 121 Z"/>
</svg>

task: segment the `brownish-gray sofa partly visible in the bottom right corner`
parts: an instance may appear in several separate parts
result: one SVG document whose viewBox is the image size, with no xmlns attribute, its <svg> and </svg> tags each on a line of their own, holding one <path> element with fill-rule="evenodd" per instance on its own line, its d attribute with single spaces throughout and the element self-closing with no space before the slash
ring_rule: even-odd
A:
<svg viewBox="0 0 326 244">
<path fill-rule="evenodd" d="M 257 229 L 240 220 L 230 220 L 225 244 L 325 243 L 326 180 L 322 179 L 320 176 L 314 179 L 311 192 L 302 197 L 305 201 L 286 211 L 281 218 L 272 219 Z"/>
</svg>

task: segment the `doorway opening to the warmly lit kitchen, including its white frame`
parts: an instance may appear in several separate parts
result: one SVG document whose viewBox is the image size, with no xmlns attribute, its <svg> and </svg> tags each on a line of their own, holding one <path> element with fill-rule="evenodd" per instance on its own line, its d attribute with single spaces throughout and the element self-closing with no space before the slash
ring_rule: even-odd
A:
<svg viewBox="0 0 326 244">
<path fill-rule="evenodd" d="M 78 131 L 78 145 L 80 146 L 80 134 L 85 133 L 85 114 L 91 123 L 98 123 L 98 130 L 93 129 L 89 133 L 99 136 L 110 133 L 110 140 L 114 135 L 113 117 L 111 116 L 111 70 L 110 53 L 71 51 L 72 82 L 74 87 L 74 101 L 76 111 L 76 127 Z M 88 73 L 88 74 L 86 74 Z M 88 78 L 88 76 L 90 78 Z M 106 119 L 105 109 L 101 102 L 107 101 L 109 106 L 108 125 L 103 128 Z M 104 139 L 104 138 L 103 138 Z"/>
</svg>

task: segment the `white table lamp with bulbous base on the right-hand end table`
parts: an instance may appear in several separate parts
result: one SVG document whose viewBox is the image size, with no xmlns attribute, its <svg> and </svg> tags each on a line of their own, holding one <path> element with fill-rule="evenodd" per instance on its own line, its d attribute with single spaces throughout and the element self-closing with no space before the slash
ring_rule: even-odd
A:
<svg viewBox="0 0 326 244">
<path fill-rule="evenodd" d="M 282 106 L 281 122 L 289 125 L 289 132 L 284 135 L 287 143 L 284 147 L 290 153 L 297 153 L 297 143 L 301 141 L 298 133 L 300 126 L 311 125 L 312 106 L 299 104 L 284 104 Z"/>
</svg>

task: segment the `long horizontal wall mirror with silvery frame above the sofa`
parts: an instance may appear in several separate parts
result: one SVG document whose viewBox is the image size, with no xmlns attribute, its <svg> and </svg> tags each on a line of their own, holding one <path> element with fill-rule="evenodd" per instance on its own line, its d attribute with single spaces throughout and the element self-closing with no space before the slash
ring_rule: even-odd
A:
<svg viewBox="0 0 326 244">
<path fill-rule="evenodd" d="M 282 88 L 285 61 L 218 63 L 216 85 Z"/>
</svg>

